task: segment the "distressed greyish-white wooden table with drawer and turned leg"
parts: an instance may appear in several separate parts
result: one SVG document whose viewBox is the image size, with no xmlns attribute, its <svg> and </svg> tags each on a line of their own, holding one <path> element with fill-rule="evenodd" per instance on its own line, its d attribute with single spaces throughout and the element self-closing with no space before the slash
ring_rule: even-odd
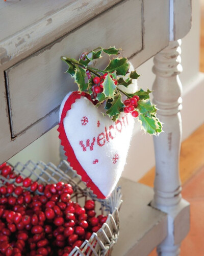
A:
<svg viewBox="0 0 204 256">
<path fill-rule="evenodd" d="M 182 67 L 177 39 L 190 26 L 190 0 L 0 2 L 0 162 L 58 123 L 59 105 L 74 90 L 62 75 L 60 56 L 115 45 L 135 68 L 155 56 L 154 101 L 165 131 L 154 138 L 155 188 L 121 180 L 124 203 L 115 256 L 148 255 L 155 246 L 159 255 L 179 255 L 189 230 L 178 169 Z"/>
</svg>

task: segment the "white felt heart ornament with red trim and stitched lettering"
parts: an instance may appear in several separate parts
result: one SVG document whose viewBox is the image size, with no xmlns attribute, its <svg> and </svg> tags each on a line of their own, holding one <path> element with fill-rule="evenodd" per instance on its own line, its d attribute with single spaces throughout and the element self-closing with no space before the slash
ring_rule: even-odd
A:
<svg viewBox="0 0 204 256">
<path fill-rule="evenodd" d="M 121 176 L 133 127 L 131 114 L 114 122 L 85 93 L 71 92 L 61 104 L 58 131 L 65 155 L 98 198 L 108 197 Z"/>
</svg>

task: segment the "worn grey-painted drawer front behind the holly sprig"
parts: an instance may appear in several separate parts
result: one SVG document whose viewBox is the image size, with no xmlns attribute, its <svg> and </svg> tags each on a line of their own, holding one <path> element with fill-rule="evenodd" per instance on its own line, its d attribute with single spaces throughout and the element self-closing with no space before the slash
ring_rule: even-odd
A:
<svg viewBox="0 0 204 256">
<path fill-rule="evenodd" d="M 49 118 L 64 96 L 77 90 L 63 73 L 67 67 L 61 56 L 79 58 L 84 50 L 116 46 L 130 57 L 142 50 L 142 24 L 142 1 L 123 1 L 6 70 L 11 137 Z M 57 115 L 54 118 L 52 123 L 58 121 Z M 36 133 L 51 128 L 43 126 L 44 131 Z"/>
</svg>

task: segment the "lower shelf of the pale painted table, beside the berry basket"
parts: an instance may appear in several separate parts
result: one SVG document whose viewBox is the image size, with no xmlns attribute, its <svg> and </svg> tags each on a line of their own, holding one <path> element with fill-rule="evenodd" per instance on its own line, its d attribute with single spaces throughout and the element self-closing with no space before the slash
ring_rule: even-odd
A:
<svg viewBox="0 0 204 256">
<path fill-rule="evenodd" d="M 152 188 L 121 178 L 120 235 L 112 256 L 147 256 L 167 236 L 167 215 L 150 207 Z"/>
</svg>

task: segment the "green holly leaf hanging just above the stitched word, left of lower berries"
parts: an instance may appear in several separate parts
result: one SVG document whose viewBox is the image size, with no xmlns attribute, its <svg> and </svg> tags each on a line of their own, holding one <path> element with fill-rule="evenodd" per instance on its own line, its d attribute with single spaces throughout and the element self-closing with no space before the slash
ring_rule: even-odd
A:
<svg viewBox="0 0 204 256">
<path fill-rule="evenodd" d="M 119 117 L 121 109 L 123 109 L 124 106 L 121 95 L 117 94 L 115 95 L 113 102 L 111 103 L 111 107 L 107 110 L 106 114 L 112 117 L 112 120 L 115 121 Z"/>
</svg>

